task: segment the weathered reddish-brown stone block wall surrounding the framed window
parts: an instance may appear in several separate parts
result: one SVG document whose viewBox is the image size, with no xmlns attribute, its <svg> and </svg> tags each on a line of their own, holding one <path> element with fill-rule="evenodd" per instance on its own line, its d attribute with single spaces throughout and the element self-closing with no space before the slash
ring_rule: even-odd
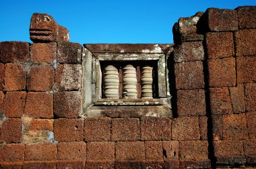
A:
<svg viewBox="0 0 256 169">
<path fill-rule="evenodd" d="M 180 18 L 173 34 L 159 50 L 93 46 L 164 54 L 172 115 L 86 117 L 86 99 L 100 90 L 87 83 L 96 54 L 35 13 L 33 44 L 0 42 L 0 168 L 256 167 L 256 7 L 210 8 Z"/>
</svg>

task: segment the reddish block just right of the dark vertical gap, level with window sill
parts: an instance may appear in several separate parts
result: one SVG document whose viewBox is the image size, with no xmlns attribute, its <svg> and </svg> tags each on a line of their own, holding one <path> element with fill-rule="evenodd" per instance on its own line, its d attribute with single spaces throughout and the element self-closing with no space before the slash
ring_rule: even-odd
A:
<svg viewBox="0 0 256 169">
<path fill-rule="evenodd" d="M 210 105 L 212 115 L 232 113 L 232 106 L 228 87 L 210 88 Z"/>
</svg>

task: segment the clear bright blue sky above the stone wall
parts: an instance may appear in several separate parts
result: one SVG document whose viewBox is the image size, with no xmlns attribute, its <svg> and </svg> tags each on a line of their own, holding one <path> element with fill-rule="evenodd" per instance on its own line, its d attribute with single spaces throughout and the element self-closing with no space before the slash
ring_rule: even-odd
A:
<svg viewBox="0 0 256 169">
<path fill-rule="evenodd" d="M 71 42 L 172 43 L 172 25 L 209 7 L 234 9 L 256 0 L 1 0 L 0 41 L 31 42 L 32 13 L 48 13 L 67 27 Z"/>
</svg>

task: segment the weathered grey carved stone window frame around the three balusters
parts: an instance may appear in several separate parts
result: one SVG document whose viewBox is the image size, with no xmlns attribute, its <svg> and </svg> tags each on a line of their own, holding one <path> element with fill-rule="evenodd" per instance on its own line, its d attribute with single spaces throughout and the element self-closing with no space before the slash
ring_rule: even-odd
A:
<svg viewBox="0 0 256 169">
<path fill-rule="evenodd" d="M 92 44 L 93 45 L 93 44 Z M 96 44 L 95 44 L 96 45 Z M 136 44 L 139 45 L 139 44 Z M 154 50 L 141 51 L 93 51 L 84 45 L 82 117 L 172 117 L 170 87 L 168 83 L 167 60 L 170 51 L 164 52 L 159 44 Z M 158 99 L 102 99 L 102 61 L 147 60 L 158 65 Z M 127 111 L 129 107 L 129 111 Z"/>
</svg>

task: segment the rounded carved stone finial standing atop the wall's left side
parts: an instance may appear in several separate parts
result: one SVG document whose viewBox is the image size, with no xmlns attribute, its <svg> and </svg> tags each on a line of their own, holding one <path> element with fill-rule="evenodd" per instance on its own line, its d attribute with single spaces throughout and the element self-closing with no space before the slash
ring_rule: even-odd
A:
<svg viewBox="0 0 256 169">
<path fill-rule="evenodd" d="M 69 31 L 58 25 L 51 15 L 34 13 L 30 20 L 32 42 L 69 42 Z"/>
</svg>

